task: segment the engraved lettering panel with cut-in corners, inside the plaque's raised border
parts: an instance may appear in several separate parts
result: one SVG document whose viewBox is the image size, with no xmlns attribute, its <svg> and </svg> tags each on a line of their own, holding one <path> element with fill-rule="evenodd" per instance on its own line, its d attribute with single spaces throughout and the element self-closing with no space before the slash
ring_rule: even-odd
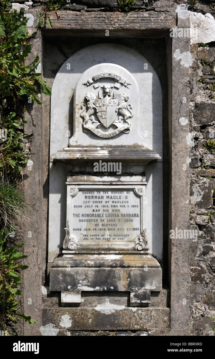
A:
<svg viewBox="0 0 215 359">
<path fill-rule="evenodd" d="M 82 190 L 71 201 L 78 241 L 131 242 L 141 233 L 140 197 L 133 189 Z"/>
</svg>

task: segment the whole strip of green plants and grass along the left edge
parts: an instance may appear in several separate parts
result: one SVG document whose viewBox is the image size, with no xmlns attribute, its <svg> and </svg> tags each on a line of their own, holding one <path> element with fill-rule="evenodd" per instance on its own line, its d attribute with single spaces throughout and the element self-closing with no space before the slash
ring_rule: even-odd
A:
<svg viewBox="0 0 215 359">
<path fill-rule="evenodd" d="M 0 3 L 0 129 L 7 133 L 7 140 L 0 146 L 0 328 L 6 329 L 10 321 L 18 318 L 35 323 L 30 316 L 17 313 L 18 288 L 21 282 L 20 270 L 27 265 L 20 264 L 26 257 L 21 251 L 23 242 L 14 246 L 11 238 L 20 232 L 27 205 L 16 188 L 22 175 L 29 152 L 24 153 L 23 126 L 25 103 L 42 102 L 39 92 L 51 95 L 51 89 L 37 73 L 39 57 L 26 65 L 32 50 L 28 43 L 27 17 L 24 9 L 19 14 L 10 11 L 8 0 Z M 22 178 L 23 180 L 23 178 Z"/>
</svg>

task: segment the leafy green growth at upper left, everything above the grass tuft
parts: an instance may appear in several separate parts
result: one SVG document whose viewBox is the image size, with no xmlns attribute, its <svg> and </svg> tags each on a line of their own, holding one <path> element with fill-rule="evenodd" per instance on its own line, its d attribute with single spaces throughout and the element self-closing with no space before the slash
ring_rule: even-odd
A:
<svg viewBox="0 0 215 359">
<path fill-rule="evenodd" d="M 21 8 L 9 12 L 0 8 L 0 115 L 1 126 L 7 131 L 8 139 L 0 149 L 0 175 L 3 180 L 16 177 L 22 172 L 28 156 L 23 153 L 23 120 L 24 103 L 29 99 L 41 104 L 39 92 L 51 95 L 51 89 L 37 73 L 39 57 L 29 65 L 25 59 L 32 50 L 28 44 L 27 17 Z"/>
</svg>

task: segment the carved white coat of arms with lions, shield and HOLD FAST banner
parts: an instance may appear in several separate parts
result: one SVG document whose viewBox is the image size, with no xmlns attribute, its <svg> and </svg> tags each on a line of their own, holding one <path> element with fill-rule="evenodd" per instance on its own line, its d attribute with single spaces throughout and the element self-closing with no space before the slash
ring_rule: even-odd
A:
<svg viewBox="0 0 215 359">
<path fill-rule="evenodd" d="M 130 131 L 130 119 L 133 118 L 132 104 L 129 103 L 128 92 L 116 92 L 121 88 L 121 84 L 129 88 L 130 83 L 121 79 L 115 74 L 102 74 L 104 77 L 111 77 L 115 84 L 100 85 L 94 84 L 96 93 L 88 92 L 85 95 L 81 106 L 80 116 L 83 118 L 83 130 L 85 132 L 94 132 L 100 137 L 113 137 L 121 131 L 128 133 Z M 105 76 L 104 76 L 105 75 Z M 88 80 L 85 85 L 89 85 L 95 80 L 98 81 L 99 74 Z M 121 84 L 120 84 L 121 82 Z"/>
</svg>

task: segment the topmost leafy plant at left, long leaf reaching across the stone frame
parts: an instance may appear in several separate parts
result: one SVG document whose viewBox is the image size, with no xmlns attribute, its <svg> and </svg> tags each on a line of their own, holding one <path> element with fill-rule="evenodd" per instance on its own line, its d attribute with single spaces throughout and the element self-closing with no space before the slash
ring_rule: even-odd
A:
<svg viewBox="0 0 215 359">
<path fill-rule="evenodd" d="M 21 98 L 26 101 L 27 97 L 31 97 L 33 101 L 41 104 L 37 98 L 39 90 L 47 95 L 51 95 L 51 90 L 41 79 L 41 74 L 36 72 L 38 56 L 31 64 L 24 65 L 24 60 L 32 50 L 27 43 L 28 18 L 24 16 L 24 8 L 21 8 L 19 14 L 16 10 L 7 13 L 3 9 L 0 13 L 0 97 L 11 96 L 14 103 Z"/>
</svg>

